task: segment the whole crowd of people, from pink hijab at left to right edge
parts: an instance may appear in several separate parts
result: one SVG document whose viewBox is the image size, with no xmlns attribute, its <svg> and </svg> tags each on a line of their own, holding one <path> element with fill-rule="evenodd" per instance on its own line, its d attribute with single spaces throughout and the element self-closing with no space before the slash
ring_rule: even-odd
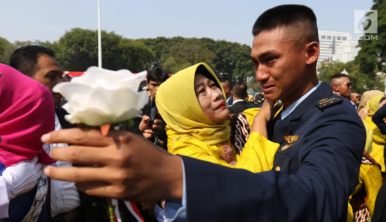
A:
<svg viewBox="0 0 386 222">
<path fill-rule="evenodd" d="M 107 136 L 64 118 L 53 50 L 15 50 L 0 64 L 2 222 L 108 222 L 106 197 L 123 222 L 386 221 L 384 92 L 318 81 L 304 5 L 267 10 L 252 34 L 262 93 L 205 63 L 154 68 L 142 118 Z"/>
</svg>

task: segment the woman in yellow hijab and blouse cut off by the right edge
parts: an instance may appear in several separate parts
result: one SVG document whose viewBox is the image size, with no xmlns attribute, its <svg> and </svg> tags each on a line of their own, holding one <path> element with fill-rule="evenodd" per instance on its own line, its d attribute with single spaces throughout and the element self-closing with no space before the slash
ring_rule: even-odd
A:
<svg viewBox="0 0 386 222">
<path fill-rule="evenodd" d="M 386 97 L 385 95 L 376 95 L 369 99 L 367 102 L 366 108 L 367 108 L 367 116 L 364 118 L 364 120 L 369 124 L 369 128 L 372 130 L 372 150 L 371 150 L 371 157 L 378 162 L 379 165 L 381 165 L 382 172 L 386 172 L 385 169 L 385 161 L 384 161 L 384 144 L 386 142 L 386 135 L 383 135 L 381 133 L 381 130 L 377 127 L 377 125 L 372 122 L 372 115 L 379 109 L 379 103 L 381 100 L 384 100 Z"/>
</svg>

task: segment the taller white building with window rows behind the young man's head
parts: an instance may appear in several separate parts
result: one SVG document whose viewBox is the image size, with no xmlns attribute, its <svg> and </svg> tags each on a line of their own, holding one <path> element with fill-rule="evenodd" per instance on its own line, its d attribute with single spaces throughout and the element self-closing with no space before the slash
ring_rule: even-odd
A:
<svg viewBox="0 0 386 222">
<path fill-rule="evenodd" d="M 349 32 L 330 32 L 330 31 L 318 31 L 319 32 L 319 45 L 320 54 L 318 63 L 328 59 L 332 55 L 337 53 L 337 49 L 340 44 L 346 41 L 352 41 L 352 35 Z"/>
</svg>

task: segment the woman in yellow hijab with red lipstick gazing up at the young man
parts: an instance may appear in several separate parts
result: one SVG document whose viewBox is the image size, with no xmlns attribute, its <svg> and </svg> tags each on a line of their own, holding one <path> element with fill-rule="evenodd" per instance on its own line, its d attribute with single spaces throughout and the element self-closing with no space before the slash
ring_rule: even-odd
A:
<svg viewBox="0 0 386 222">
<path fill-rule="evenodd" d="M 162 83 L 156 104 L 168 125 L 168 139 L 174 137 L 168 151 L 255 173 L 271 170 L 279 144 L 253 130 L 240 155 L 230 144 L 224 95 L 216 75 L 205 63 L 181 70 Z"/>
</svg>

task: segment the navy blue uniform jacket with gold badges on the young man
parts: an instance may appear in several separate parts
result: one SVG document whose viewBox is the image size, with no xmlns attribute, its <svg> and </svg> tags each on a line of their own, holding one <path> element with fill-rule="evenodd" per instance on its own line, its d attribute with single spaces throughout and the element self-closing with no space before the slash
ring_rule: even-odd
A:
<svg viewBox="0 0 386 222">
<path fill-rule="evenodd" d="M 366 130 L 341 98 L 324 82 L 291 114 L 272 121 L 269 133 L 281 148 L 271 171 L 253 174 L 182 157 L 188 221 L 346 222 Z M 285 145 L 291 146 L 282 151 Z"/>
</svg>

